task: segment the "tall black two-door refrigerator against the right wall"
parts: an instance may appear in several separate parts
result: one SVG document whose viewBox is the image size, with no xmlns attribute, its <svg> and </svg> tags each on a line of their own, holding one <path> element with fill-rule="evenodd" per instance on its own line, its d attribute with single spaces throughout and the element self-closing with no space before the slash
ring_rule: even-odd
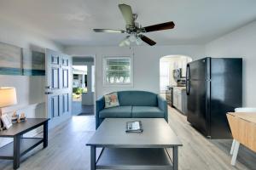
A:
<svg viewBox="0 0 256 170">
<path fill-rule="evenodd" d="M 226 113 L 242 105 L 242 59 L 204 58 L 187 65 L 187 120 L 210 139 L 230 139 Z"/>
</svg>

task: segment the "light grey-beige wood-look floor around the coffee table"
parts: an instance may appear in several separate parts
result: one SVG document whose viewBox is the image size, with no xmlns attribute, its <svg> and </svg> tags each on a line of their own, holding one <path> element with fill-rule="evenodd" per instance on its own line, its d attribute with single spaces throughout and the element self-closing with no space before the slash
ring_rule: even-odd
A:
<svg viewBox="0 0 256 170">
<path fill-rule="evenodd" d="M 241 147 L 236 167 L 230 166 L 231 140 L 210 140 L 186 121 L 186 117 L 169 107 L 169 124 L 182 140 L 179 149 L 180 170 L 256 169 L 256 156 Z M 73 116 L 49 131 L 49 145 L 39 145 L 21 158 L 20 170 L 89 170 L 90 148 L 85 146 L 95 129 L 94 116 Z M 12 169 L 12 161 L 0 160 L 0 169 Z"/>
</svg>

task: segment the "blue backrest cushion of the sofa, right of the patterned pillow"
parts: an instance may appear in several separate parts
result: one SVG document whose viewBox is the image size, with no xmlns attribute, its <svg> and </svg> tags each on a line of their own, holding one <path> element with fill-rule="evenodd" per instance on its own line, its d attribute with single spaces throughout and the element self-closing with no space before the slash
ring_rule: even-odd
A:
<svg viewBox="0 0 256 170">
<path fill-rule="evenodd" d="M 157 94 L 145 91 L 121 91 L 118 92 L 121 106 L 157 106 Z"/>
</svg>

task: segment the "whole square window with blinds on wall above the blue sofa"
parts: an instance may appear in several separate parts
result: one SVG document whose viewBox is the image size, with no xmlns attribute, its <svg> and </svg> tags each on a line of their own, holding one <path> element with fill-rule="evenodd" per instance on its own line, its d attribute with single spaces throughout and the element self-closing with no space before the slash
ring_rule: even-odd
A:
<svg viewBox="0 0 256 170">
<path fill-rule="evenodd" d="M 131 85 L 131 57 L 105 57 L 103 59 L 104 85 Z"/>
</svg>

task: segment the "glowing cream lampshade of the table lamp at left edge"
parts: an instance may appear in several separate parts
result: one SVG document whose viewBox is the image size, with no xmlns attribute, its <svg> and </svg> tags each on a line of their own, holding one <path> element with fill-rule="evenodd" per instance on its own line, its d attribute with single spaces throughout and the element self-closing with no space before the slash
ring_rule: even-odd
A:
<svg viewBox="0 0 256 170">
<path fill-rule="evenodd" d="M 0 108 L 17 104 L 15 88 L 0 88 Z"/>
</svg>

